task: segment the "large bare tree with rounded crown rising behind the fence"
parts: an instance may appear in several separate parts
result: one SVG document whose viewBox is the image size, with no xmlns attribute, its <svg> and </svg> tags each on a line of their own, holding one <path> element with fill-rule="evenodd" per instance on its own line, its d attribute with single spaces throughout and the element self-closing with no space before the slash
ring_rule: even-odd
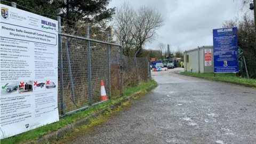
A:
<svg viewBox="0 0 256 144">
<path fill-rule="evenodd" d="M 131 56 L 157 37 L 157 30 L 164 25 L 164 18 L 153 7 L 141 6 L 134 10 L 124 2 L 117 8 L 114 22 L 116 36 L 123 37 L 124 54 Z"/>
</svg>

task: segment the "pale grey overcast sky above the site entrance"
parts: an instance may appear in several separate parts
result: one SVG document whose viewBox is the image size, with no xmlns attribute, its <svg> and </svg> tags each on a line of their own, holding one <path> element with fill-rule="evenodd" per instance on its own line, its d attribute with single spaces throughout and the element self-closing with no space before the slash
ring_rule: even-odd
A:
<svg viewBox="0 0 256 144">
<path fill-rule="evenodd" d="M 112 0 L 109 7 L 118 7 L 126 0 Z M 155 7 L 165 18 L 158 38 L 147 43 L 156 49 L 159 42 L 170 44 L 172 50 L 182 51 L 197 46 L 213 45 L 212 29 L 220 28 L 225 20 L 242 15 L 242 0 L 129 0 L 134 8 L 140 5 Z M 249 9 L 245 7 L 246 10 Z M 253 13 L 253 11 L 252 11 Z"/>
</svg>

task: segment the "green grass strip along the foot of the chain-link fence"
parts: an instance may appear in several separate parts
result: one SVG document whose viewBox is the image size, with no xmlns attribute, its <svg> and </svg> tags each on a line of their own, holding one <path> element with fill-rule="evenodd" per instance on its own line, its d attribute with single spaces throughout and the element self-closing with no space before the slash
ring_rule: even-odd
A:
<svg viewBox="0 0 256 144">
<path fill-rule="evenodd" d="M 129 97 L 131 94 L 141 91 L 142 93 L 146 93 L 145 88 L 149 87 L 150 85 L 156 84 L 156 82 L 152 79 L 150 79 L 148 82 L 140 83 L 137 86 L 134 87 L 126 87 L 124 89 L 124 97 L 116 98 L 116 99 L 110 99 L 109 101 L 100 103 L 97 106 L 90 107 L 83 111 L 78 111 L 77 113 L 65 116 L 60 118 L 60 121 L 48 125 L 44 125 L 41 127 L 38 127 L 37 129 L 30 130 L 18 135 L 15 135 L 10 138 L 6 138 L 0 141 L 1 144 L 11 144 L 11 143 L 22 143 L 30 140 L 34 140 L 38 137 L 41 137 L 47 132 L 55 131 L 60 129 L 61 127 L 75 122 L 78 119 L 84 118 L 88 115 L 91 115 L 94 111 L 100 110 L 102 108 L 108 108 L 111 104 L 116 103 L 118 101 L 121 101 L 123 98 Z"/>
</svg>

